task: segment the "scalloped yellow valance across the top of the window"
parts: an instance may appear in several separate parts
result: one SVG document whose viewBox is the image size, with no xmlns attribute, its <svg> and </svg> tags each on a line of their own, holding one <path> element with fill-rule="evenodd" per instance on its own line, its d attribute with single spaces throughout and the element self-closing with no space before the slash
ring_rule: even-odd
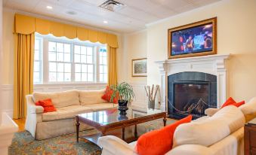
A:
<svg viewBox="0 0 256 155">
<path fill-rule="evenodd" d="M 14 32 L 29 35 L 38 32 L 42 35 L 52 34 L 57 37 L 79 38 L 81 41 L 100 42 L 108 44 L 110 47 L 117 48 L 117 36 L 106 32 L 85 29 L 78 26 L 71 26 L 57 23 L 50 20 L 42 20 L 36 17 L 29 17 L 22 14 L 15 14 Z"/>
</svg>

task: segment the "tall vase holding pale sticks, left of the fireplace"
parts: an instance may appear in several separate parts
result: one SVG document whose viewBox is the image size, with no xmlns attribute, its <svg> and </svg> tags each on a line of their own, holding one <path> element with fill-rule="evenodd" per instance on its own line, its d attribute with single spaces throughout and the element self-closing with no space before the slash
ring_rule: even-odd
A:
<svg viewBox="0 0 256 155">
<path fill-rule="evenodd" d="M 159 85 L 156 85 L 156 89 L 154 90 L 154 84 L 150 88 L 150 86 L 145 86 L 145 90 L 148 97 L 148 108 L 155 109 L 155 101 L 156 101 L 156 94 L 159 90 Z"/>
</svg>

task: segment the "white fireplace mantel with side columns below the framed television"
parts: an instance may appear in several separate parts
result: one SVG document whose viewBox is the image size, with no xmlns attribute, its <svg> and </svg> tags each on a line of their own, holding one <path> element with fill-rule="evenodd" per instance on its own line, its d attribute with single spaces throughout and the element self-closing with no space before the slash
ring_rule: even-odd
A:
<svg viewBox="0 0 256 155">
<path fill-rule="evenodd" d="M 215 54 L 209 56 L 194 56 L 180 59 L 165 59 L 157 61 L 161 76 L 162 102 L 165 109 L 168 101 L 168 75 L 184 71 L 199 71 L 217 76 L 217 107 L 221 107 L 227 98 L 227 65 L 230 54 Z M 166 108 L 167 109 L 167 108 Z"/>
</svg>

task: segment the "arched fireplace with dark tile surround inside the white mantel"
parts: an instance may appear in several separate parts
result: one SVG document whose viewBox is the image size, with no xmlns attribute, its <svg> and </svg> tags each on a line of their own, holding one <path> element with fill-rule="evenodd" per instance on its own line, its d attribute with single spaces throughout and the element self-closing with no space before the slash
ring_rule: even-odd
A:
<svg viewBox="0 0 256 155">
<path fill-rule="evenodd" d="M 192 114 L 204 116 L 206 108 L 217 107 L 217 78 L 215 75 L 185 71 L 168 76 L 168 114 L 180 119 Z"/>
</svg>

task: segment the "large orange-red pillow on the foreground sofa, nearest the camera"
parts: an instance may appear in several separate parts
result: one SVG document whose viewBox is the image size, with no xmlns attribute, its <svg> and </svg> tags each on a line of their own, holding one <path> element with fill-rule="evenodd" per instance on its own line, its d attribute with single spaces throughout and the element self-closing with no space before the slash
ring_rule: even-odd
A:
<svg viewBox="0 0 256 155">
<path fill-rule="evenodd" d="M 156 129 L 141 135 L 137 140 L 135 150 L 140 155 L 162 155 L 167 153 L 172 148 L 172 139 L 177 126 L 182 123 L 190 123 L 191 120 L 192 115 L 189 115 L 162 129 Z"/>
</svg>

